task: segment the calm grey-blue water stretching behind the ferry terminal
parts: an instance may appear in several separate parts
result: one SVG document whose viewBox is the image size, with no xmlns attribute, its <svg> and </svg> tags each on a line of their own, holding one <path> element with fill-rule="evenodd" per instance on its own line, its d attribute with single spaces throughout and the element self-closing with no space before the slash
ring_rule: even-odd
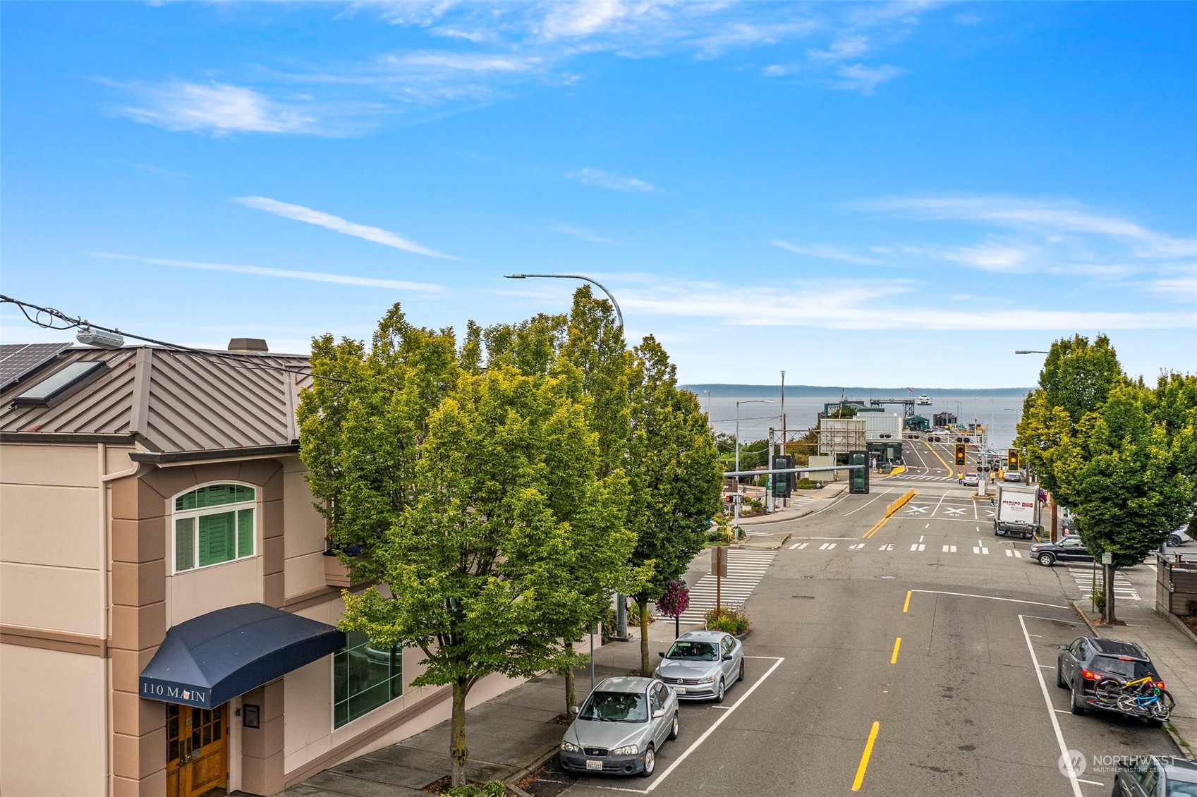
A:
<svg viewBox="0 0 1197 797">
<path fill-rule="evenodd" d="M 698 396 L 704 413 L 709 413 L 711 426 L 716 432 L 735 434 L 736 402 L 740 402 L 740 439 L 743 444 L 768 437 L 772 426 L 782 430 L 782 388 L 780 385 L 737 385 L 737 384 L 691 384 L 681 385 Z M 790 431 L 808 430 L 818 422 L 818 413 L 824 403 L 839 401 L 840 388 L 818 388 L 810 385 L 786 385 L 785 388 L 785 426 Z M 868 402 L 870 398 L 906 398 L 926 394 L 931 398 L 930 407 L 916 407 L 917 415 L 928 420 L 935 413 L 948 412 L 961 424 L 973 421 L 991 427 L 990 444 L 995 449 L 1004 449 L 1014 440 L 1015 424 L 1022 416 L 1022 400 L 1027 388 L 1008 388 L 994 390 L 962 389 L 916 389 L 911 394 L 905 388 L 887 390 L 885 388 L 844 388 L 843 397 Z M 707 394 L 707 391 L 710 391 Z M 764 403 L 772 401 L 773 403 Z M 886 404 L 887 413 L 903 414 L 900 404 Z"/>
</svg>

